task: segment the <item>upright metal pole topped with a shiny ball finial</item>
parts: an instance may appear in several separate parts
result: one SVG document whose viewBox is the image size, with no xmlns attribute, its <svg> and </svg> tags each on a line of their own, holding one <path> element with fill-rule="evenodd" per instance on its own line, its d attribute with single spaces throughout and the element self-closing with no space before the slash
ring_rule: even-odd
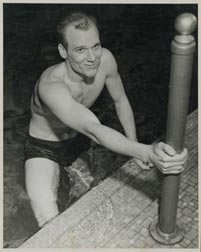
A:
<svg viewBox="0 0 201 252">
<path fill-rule="evenodd" d="M 197 20 L 191 13 L 183 13 L 175 20 L 179 33 L 171 44 L 172 61 L 166 142 L 180 153 L 184 148 L 184 137 L 190 84 L 195 51 L 194 37 Z M 176 224 L 180 186 L 179 175 L 165 175 L 162 182 L 160 212 L 158 220 L 150 225 L 152 237 L 162 244 L 175 244 L 183 239 L 184 230 Z"/>
</svg>

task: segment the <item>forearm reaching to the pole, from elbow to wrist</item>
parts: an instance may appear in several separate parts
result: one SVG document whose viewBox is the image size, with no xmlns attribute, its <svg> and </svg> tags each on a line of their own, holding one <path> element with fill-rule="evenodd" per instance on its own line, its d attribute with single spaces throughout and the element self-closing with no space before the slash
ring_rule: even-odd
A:
<svg viewBox="0 0 201 252">
<path fill-rule="evenodd" d="M 145 162 L 149 161 L 151 146 L 141 144 L 126 138 L 124 135 L 107 126 L 98 123 L 91 123 L 87 135 L 96 143 L 108 148 L 111 151 L 135 157 Z"/>
</svg>

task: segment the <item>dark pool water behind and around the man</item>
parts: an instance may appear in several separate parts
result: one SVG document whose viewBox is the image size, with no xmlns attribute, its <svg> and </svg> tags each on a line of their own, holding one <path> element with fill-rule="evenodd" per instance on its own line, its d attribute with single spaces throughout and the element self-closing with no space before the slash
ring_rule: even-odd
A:
<svg viewBox="0 0 201 252">
<path fill-rule="evenodd" d="M 165 133 L 174 20 L 183 12 L 198 16 L 195 4 L 3 5 L 5 247 L 18 246 L 36 230 L 30 228 L 33 222 L 27 227 L 19 216 L 19 212 L 29 215 L 30 211 L 23 178 L 30 97 L 42 71 L 61 61 L 55 27 L 63 13 L 73 10 L 96 17 L 102 46 L 111 50 L 117 60 L 135 114 L 138 137 L 144 143 Z M 197 41 L 197 33 L 193 35 Z M 197 104 L 196 52 L 189 113 Z M 92 110 L 102 123 L 122 131 L 107 90 L 103 90 Z"/>
</svg>

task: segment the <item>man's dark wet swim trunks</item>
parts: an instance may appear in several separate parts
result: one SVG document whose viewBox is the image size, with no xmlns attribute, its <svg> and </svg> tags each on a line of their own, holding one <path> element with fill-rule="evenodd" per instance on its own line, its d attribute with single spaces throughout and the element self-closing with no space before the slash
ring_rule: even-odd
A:
<svg viewBox="0 0 201 252">
<path fill-rule="evenodd" d="M 89 147 L 89 138 L 81 134 L 64 141 L 47 141 L 27 135 L 25 160 L 41 157 L 55 161 L 62 167 L 69 166 Z"/>
</svg>

